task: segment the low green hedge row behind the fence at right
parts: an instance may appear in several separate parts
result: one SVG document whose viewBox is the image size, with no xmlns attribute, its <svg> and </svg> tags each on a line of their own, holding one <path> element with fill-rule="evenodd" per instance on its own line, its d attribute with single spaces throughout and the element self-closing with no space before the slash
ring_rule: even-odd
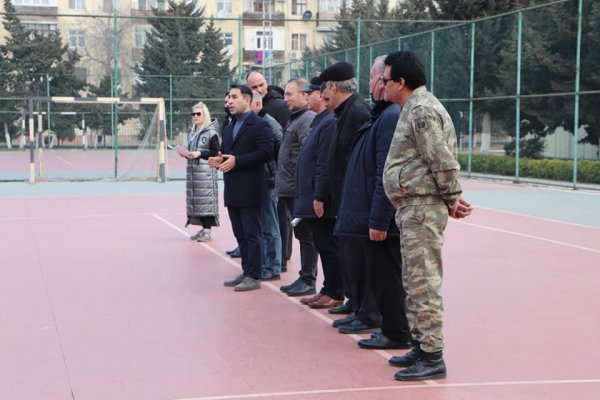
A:
<svg viewBox="0 0 600 400">
<path fill-rule="evenodd" d="M 467 155 L 460 154 L 458 162 L 461 169 L 467 171 Z M 521 158 L 519 168 L 519 176 L 523 178 L 566 182 L 573 180 L 573 162 L 569 160 Z M 507 156 L 474 155 L 471 159 L 471 172 L 515 176 L 515 159 Z M 600 161 L 579 160 L 577 182 L 600 184 Z"/>
</svg>

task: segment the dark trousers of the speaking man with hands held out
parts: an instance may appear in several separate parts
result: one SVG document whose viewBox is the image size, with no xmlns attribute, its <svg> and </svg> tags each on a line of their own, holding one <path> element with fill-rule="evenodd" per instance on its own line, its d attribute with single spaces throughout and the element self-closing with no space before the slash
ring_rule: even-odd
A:
<svg viewBox="0 0 600 400">
<path fill-rule="evenodd" d="M 244 276 L 260 279 L 262 272 L 262 227 L 259 207 L 228 207 L 233 234 L 242 253 Z"/>
</svg>

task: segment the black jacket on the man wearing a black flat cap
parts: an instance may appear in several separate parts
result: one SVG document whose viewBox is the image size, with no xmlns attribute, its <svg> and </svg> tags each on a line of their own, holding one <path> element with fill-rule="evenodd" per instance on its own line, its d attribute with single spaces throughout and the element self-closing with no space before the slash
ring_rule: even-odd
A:
<svg viewBox="0 0 600 400">
<path fill-rule="evenodd" d="M 371 108 L 357 93 L 354 93 L 336 108 L 335 115 L 337 117 L 336 130 L 329 148 L 327 175 L 333 195 L 333 206 L 337 213 L 342 196 L 346 165 L 352 152 L 352 146 L 356 141 L 356 133 L 369 120 Z"/>
</svg>

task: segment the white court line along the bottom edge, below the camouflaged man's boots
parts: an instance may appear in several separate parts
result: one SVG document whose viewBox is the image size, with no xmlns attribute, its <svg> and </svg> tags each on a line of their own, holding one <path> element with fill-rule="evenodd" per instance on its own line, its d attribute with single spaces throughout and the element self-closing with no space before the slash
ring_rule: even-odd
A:
<svg viewBox="0 0 600 400">
<path fill-rule="evenodd" d="M 405 390 L 421 390 L 421 389 L 440 389 L 440 388 L 481 388 L 490 386 L 542 386 L 542 385 L 581 385 L 581 384 L 600 384 L 600 379 L 573 379 L 573 380 L 540 380 L 540 381 L 506 381 L 506 382 L 466 382 L 466 383 L 440 383 L 435 386 L 431 385 L 402 385 L 397 386 L 372 386 L 364 388 L 339 388 L 339 389 L 322 389 L 322 390 L 302 390 L 296 392 L 265 392 L 265 393 L 250 393 L 225 396 L 203 396 L 203 397 L 185 397 L 173 400 L 232 400 L 232 399 L 256 399 L 256 398 L 273 398 L 273 397 L 288 397 L 302 395 L 324 395 L 324 394 L 340 394 L 340 393 L 360 393 L 360 392 L 375 392 L 375 391 L 405 391 Z"/>
</svg>

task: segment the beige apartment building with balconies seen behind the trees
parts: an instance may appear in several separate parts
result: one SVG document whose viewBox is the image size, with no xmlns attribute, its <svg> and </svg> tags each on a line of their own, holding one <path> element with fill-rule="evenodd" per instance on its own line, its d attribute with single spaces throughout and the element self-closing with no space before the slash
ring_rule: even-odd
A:
<svg viewBox="0 0 600 400">
<path fill-rule="evenodd" d="M 70 48 L 81 55 L 78 73 L 97 83 L 113 69 L 114 24 L 117 18 L 118 69 L 122 88 L 131 93 L 132 68 L 143 56 L 150 25 L 144 19 L 164 0 L 12 0 L 30 29 L 59 30 Z M 197 0 L 204 16 L 221 29 L 230 67 L 245 73 L 274 64 L 299 64 L 306 47 L 332 40 L 335 17 L 343 0 Z M 35 15 L 34 15 L 35 14 Z M 139 18 L 136 18 L 139 17 Z M 1 28 L 0 28 L 1 29 Z M 0 31 L 0 40 L 4 36 Z M 287 79 L 282 70 L 273 80 Z"/>
</svg>

